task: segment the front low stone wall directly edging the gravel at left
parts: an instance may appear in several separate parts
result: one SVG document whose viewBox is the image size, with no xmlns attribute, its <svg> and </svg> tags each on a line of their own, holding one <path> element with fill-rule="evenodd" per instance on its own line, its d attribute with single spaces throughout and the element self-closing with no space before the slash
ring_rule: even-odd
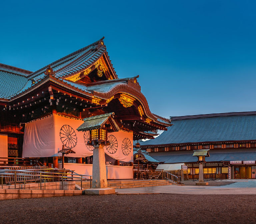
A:
<svg viewBox="0 0 256 224">
<path fill-rule="evenodd" d="M 19 190 L 0 189 L 0 200 L 82 195 L 82 190 Z"/>
</svg>

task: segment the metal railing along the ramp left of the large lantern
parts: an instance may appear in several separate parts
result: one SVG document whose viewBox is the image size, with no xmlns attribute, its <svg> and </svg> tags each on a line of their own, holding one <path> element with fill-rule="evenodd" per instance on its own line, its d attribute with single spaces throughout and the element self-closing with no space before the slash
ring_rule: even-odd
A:
<svg viewBox="0 0 256 224">
<path fill-rule="evenodd" d="M 63 182 L 65 181 L 81 181 L 81 189 L 82 189 L 82 181 L 87 181 L 90 179 L 90 188 L 92 188 L 92 176 L 91 175 L 83 175 L 75 173 L 72 170 L 67 169 L 31 169 L 31 170 L 8 170 L 8 169 L 0 169 L 0 177 L 1 177 L 1 185 L 3 189 L 3 178 L 4 177 L 14 177 L 14 189 L 16 189 L 17 179 L 18 182 L 24 182 L 24 189 L 26 189 L 26 182 L 40 181 L 40 190 L 42 190 L 42 180 L 44 181 L 44 189 L 45 183 L 47 182 Z M 87 178 L 88 177 L 88 178 Z M 22 180 L 22 181 L 20 181 Z"/>
</svg>

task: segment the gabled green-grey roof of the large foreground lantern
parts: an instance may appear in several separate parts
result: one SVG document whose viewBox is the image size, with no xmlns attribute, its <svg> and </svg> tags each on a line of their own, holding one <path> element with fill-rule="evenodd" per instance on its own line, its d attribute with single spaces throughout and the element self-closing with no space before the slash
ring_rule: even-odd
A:
<svg viewBox="0 0 256 224">
<path fill-rule="evenodd" d="M 92 116 L 84 119 L 84 123 L 81 124 L 76 130 L 88 131 L 92 129 L 105 128 L 108 132 L 119 131 L 119 127 L 114 120 L 115 113 L 107 113 L 97 116 Z"/>
</svg>

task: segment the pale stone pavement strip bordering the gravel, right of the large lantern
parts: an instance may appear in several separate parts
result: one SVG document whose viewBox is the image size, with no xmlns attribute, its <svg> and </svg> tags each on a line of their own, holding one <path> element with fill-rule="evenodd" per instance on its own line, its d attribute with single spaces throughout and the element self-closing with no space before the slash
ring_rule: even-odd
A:
<svg viewBox="0 0 256 224">
<path fill-rule="evenodd" d="M 116 189 L 116 193 L 117 194 L 256 194 L 256 186 L 254 186 L 254 183 L 256 184 L 256 182 L 254 181 L 237 182 L 234 184 L 220 186 L 220 187 L 179 186 L 179 185 L 138 187 L 138 188 L 128 188 L 128 189 Z"/>
</svg>

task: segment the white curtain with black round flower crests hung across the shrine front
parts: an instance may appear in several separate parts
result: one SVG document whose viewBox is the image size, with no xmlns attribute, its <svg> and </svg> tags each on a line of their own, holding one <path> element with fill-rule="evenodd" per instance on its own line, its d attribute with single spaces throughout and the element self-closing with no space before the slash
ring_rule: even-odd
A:
<svg viewBox="0 0 256 224">
<path fill-rule="evenodd" d="M 93 147 L 88 146 L 89 131 L 79 132 L 76 129 L 83 123 L 82 119 L 53 114 L 48 117 L 28 122 L 24 131 L 22 157 L 62 156 L 62 149 L 72 148 L 76 153 L 68 157 L 87 157 L 93 155 Z M 108 133 L 110 146 L 104 147 L 105 153 L 114 159 L 133 161 L 133 133 L 118 131 Z"/>
</svg>

